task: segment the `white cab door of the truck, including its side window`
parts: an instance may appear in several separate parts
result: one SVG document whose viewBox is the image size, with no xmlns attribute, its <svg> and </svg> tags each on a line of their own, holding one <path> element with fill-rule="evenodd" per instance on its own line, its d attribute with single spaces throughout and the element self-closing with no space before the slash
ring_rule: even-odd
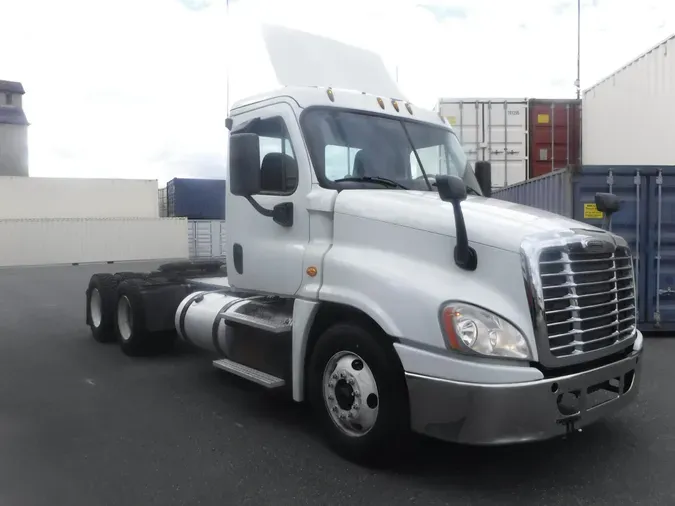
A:
<svg viewBox="0 0 675 506">
<path fill-rule="evenodd" d="M 259 137 L 261 192 L 226 199 L 228 278 L 242 290 L 292 296 L 303 279 L 303 256 L 309 243 L 306 195 L 310 165 L 292 107 L 285 102 L 233 116 L 231 133 Z M 228 179 L 230 167 L 228 163 Z M 291 207 L 291 225 L 263 214 L 279 204 Z"/>
</svg>

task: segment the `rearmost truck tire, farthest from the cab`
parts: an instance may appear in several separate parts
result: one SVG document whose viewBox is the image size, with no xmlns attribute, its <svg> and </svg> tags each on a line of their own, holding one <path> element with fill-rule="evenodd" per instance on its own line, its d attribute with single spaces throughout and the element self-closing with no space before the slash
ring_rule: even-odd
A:
<svg viewBox="0 0 675 506">
<path fill-rule="evenodd" d="M 87 325 L 99 343 L 115 340 L 117 280 L 112 274 L 94 274 L 87 287 Z"/>
</svg>

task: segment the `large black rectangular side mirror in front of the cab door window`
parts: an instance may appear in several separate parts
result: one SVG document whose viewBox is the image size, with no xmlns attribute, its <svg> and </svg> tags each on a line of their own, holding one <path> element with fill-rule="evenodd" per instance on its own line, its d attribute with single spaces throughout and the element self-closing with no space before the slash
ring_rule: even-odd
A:
<svg viewBox="0 0 675 506">
<path fill-rule="evenodd" d="M 256 134 L 230 135 L 228 180 L 232 195 L 260 193 L 260 142 Z"/>
</svg>

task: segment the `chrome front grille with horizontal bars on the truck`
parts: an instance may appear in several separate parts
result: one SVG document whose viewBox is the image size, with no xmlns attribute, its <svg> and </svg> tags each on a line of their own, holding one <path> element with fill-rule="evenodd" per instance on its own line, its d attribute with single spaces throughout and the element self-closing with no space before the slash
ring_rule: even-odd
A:
<svg viewBox="0 0 675 506">
<path fill-rule="evenodd" d="M 635 289 L 627 248 L 614 253 L 547 248 L 539 256 L 539 273 L 554 357 L 600 350 L 633 334 Z"/>
</svg>

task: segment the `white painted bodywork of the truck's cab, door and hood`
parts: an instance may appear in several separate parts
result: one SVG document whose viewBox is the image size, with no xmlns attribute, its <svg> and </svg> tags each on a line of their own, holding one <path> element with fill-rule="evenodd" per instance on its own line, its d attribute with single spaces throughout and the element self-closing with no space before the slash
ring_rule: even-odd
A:
<svg viewBox="0 0 675 506">
<path fill-rule="evenodd" d="M 292 195 L 255 196 L 267 209 L 292 202 L 294 224 L 289 228 L 258 213 L 245 198 L 233 195 L 228 185 L 227 216 L 237 218 L 228 220 L 227 257 L 233 257 L 235 243 L 246 251 L 243 274 L 229 262 L 229 284 L 306 303 L 345 304 L 369 315 L 393 337 L 439 350 L 445 347 L 439 308 L 445 301 L 461 299 L 489 308 L 516 325 L 536 360 L 519 254 L 521 241 L 536 232 L 593 227 L 535 208 L 469 196 L 462 209 L 479 261 L 476 271 L 463 271 L 453 261 L 456 240 L 452 206 L 436 192 L 395 189 L 338 193 L 319 185 L 298 124 L 303 109 L 316 104 L 401 114 L 390 104 L 383 111 L 372 95 L 345 90 L 335 90 L 335 102 L 328 100 L 325 89 L 286 88 L 236 104 L 231 113 L 233 128 L 252 118 L 281 115 L 287 121 L 299 175 Z M 412 108 L 417 120 L 450 128 L 438 114 Z M 310 266 L 318 269 L 315 277 L 306 273 Z M 303 318 L 311 324 L 308 313 L 310 310 L 303 307 Z M 295 321 L 294 342 L 303 346 L 307 329 L 296 330 L 297 325 Z M 411 373 L 488 383 L 543 377 L 537 369 L 520 364 L 485 365 L 462 357 L 428 354 L 405 344 L 397 344 L 396 349 L 406 372 Z M 294 354 L 302 356 L 299 350 Z M 297 361 L 294 394 L 300 400 L 303 363 Z"/>
</svg>

